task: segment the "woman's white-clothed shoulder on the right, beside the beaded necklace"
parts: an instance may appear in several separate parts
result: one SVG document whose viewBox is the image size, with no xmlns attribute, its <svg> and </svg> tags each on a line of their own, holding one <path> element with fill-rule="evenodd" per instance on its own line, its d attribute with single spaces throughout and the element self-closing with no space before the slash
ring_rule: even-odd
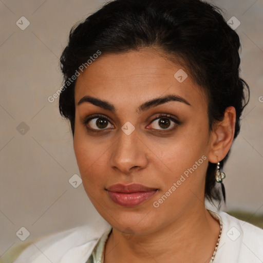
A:
<svg viewBox="0 0 263 263">
<path fill-rule="evenodd" d="M 263 229 L 237 219 L 226 212 L 220 211 L 217 214 L 223 223 L 218 245 L 220 260 L 238 263 L 262 262 Z"/>
</svg>

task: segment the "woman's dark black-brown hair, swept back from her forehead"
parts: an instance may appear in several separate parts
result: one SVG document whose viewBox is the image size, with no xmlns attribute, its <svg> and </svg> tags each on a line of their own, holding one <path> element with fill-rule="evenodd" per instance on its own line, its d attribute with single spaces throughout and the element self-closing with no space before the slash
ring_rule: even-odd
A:
<svg viewBox="0 0 263 263">
<path fill-rule="evenodd" d="M 64 81 L 69 84 L 62 89 L 59 99 L 60 113 L 70 121 L 72 135 L 76 80 L 70 77 L 80 71 L 80 65 L 98 50 L 103 56 L 154 47 L 171 61 L 180 61 L 203 88 L 208 98 L 210 130 L 223 119 L 227 107 L 235 107 L 236 138 L 242 110 L 249 101 L 249 86 L 239 77 L 239 36 L 220 11 L 219 7 L 200 0 L 115 0 L 72 27 L 60 59 Z M 205 197 L 220 204 L 215 171 L 216 164 L 209 162 Z"/>
</svg>

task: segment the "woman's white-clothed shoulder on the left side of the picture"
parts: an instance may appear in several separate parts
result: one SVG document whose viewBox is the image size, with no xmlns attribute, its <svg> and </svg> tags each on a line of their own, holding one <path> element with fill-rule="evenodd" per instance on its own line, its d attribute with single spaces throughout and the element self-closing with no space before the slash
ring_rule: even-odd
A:
<svg viewBox="0 0 263 263">
<path fill-rule="evenodd" d="M 42 237 L 32 241 L 13 262 L 86 262 L 98 240 L 109 227 L 110 225 L 104 219 L 100 219 L 96 223 Z"/>
</svg>

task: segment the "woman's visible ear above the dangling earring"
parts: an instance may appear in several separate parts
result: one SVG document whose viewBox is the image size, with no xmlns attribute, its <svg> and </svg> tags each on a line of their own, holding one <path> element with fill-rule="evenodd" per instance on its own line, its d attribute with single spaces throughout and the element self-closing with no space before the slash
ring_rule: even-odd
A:
<svg viewBox="0 0 263 263">
<path fill-rule="evenodd" d="M 227 107 L 223 120 L 213 125 L 208 156 L 210 162 L 220 162 L 228 154 L 234 140 L 235 123 L 236 110 L 233 106 Z"/>
</svg>

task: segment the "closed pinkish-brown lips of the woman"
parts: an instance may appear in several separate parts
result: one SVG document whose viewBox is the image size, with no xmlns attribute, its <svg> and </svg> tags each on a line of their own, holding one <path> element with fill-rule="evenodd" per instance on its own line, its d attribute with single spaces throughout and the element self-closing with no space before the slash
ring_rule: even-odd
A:
<svg viewBox="0 0 263 263">
<path fill-rule="evenodd" d="M 115 203 L 132 207 L 138 205 L 150 198 L 158 191 L 158 189 L 144 186 L 142 184 L 114 184 L 107 188 L 109 197 Z"/>
</svg>

